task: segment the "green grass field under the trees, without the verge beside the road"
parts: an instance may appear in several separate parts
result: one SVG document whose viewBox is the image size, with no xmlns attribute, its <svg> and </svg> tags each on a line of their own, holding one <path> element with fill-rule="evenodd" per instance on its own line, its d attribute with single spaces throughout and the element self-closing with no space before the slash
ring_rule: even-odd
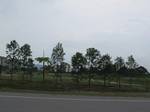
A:
<svg viewBox="0 0 150 112">
<path fill-rule="evenodd" d="M 84 92 L 149 92 L 150 77 L 120 77 L 120 87 L 116 74 L 110 74 L 106 77 L 106 86 L 104 86 L 103 76 L 95 76 L 91 80 L 91 87 L 88 86 L 88 79 L 84 77 L 77 84 L 71 74 L 61 74 L 62 79 L 57 80 L 54 73 L 46 73 L 43 81 L 42 73 L 34 73 L 31 77 L 21 73 L 13 74 L 13 80 L 10 80 L 10 74 L 2 74 L 0 77 L 0 89 L 24 89 L 40 91 L 84 91 Z M 86 76 L 86 74 L 84 75 Z"/>
</svg>

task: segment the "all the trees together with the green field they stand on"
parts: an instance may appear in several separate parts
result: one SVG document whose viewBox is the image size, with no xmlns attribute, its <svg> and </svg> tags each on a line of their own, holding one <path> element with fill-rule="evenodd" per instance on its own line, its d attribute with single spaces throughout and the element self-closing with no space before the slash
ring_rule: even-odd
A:
<svg viewBox="0 0 150 112">
<path fill-rule="evenodd" d="M 11 41 L 6 45 L 7 68 L 0 65 L 0 88 L 34 89 L 53 91 L 149 91 L 148 70 L 137 64 L 133 55 L 127 62 L 122 57 L 114 61 L 98 49 L 88 48 L 86 54 L 75 53 L 71 65 L 65 62 L 61 43 L 52 51 L 51 57 L 35 58 L 42 63 L 37 68 L 29 44 Z M 11 79 L 11 81 L 9 81 Z"/>
</svg>

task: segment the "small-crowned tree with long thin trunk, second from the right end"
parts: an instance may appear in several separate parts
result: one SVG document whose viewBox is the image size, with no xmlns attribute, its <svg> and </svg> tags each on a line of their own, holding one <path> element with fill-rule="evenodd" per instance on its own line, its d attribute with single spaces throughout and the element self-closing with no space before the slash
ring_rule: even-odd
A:
<svg viewBox="0 0 150 112">
<path fill-rule="evenodd" d="M 121 87 L 121 84 L 120 84 L 120 70 L 123 67 L 125 67 L 124 59 L 122 57 L 117 57 L 115 59 L 115 68 L 116 68 L 116 72 L 118 73 L 118 86 L 119 86 L 119 88 Z"/>
</svg>

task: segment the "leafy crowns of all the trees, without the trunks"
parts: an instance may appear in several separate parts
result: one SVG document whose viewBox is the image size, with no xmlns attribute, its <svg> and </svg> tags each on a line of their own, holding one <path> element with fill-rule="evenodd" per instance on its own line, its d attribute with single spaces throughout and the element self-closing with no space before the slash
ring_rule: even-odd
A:
<svg viewBox="0 0 150 112">
<path fill-rule="evenodd" d="M 13 69 L 19 67 L 25 70 L 34 64 L 34 61 L 31 57 L 31 46 L 29 44 L 24 44 L 20 47 L 15 40 L 12 40 L 6 45 L 6 54 L 9 67 L 12 68 L 12 71 Z M 70 65 L 64 62 L 64 56 L 65 52 L 62 43 L 58 43 L 53 48 L 51 58 L 43 56 L 37 57 L 35 60 L 39 63 L 43 63 L 43 66 L 45 66 L 46 63 L 49 66 L 48 69 L 51 68 L 52 71 L 64 72 L 66 68 L 70 68 Z M 125 62 L 122 57 L 117 57 L 114 61 L 115 62 L 113 63 L 110 55 L 101 55 L 98 49 L 88 48 L 85 55 L 80 52 L 77 52 L 75 55 L 73 55 L 71 64 L 73 70 L 77 72 L 80 72 L 83 69 L 86 69 L 86 71 L 89 73 L 97 73 L 101 71 L 107 72 L 113 71 L 113 69 L 115 69 L 116 72 L 126 71 L 126 69 L 128 71 L 144 71 L 142 67 L 138 68 L 138 64 L 132 55 L 128 57 L 127 62 Z"/>
</svg>

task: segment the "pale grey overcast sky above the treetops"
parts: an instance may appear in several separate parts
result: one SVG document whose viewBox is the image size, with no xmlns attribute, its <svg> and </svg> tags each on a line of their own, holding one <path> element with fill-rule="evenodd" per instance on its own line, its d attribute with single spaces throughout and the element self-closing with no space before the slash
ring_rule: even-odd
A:
<svg viewBox="0 0 150 112">
<path fill-rule="evenodd" d="M 150 0 L 0 0 L 0 52 L 10 40 L 47 56 L 62 42 L 66 60 L 95 47 L 113 58 L 133 54 L 150 70 Z"/>
</svg>

